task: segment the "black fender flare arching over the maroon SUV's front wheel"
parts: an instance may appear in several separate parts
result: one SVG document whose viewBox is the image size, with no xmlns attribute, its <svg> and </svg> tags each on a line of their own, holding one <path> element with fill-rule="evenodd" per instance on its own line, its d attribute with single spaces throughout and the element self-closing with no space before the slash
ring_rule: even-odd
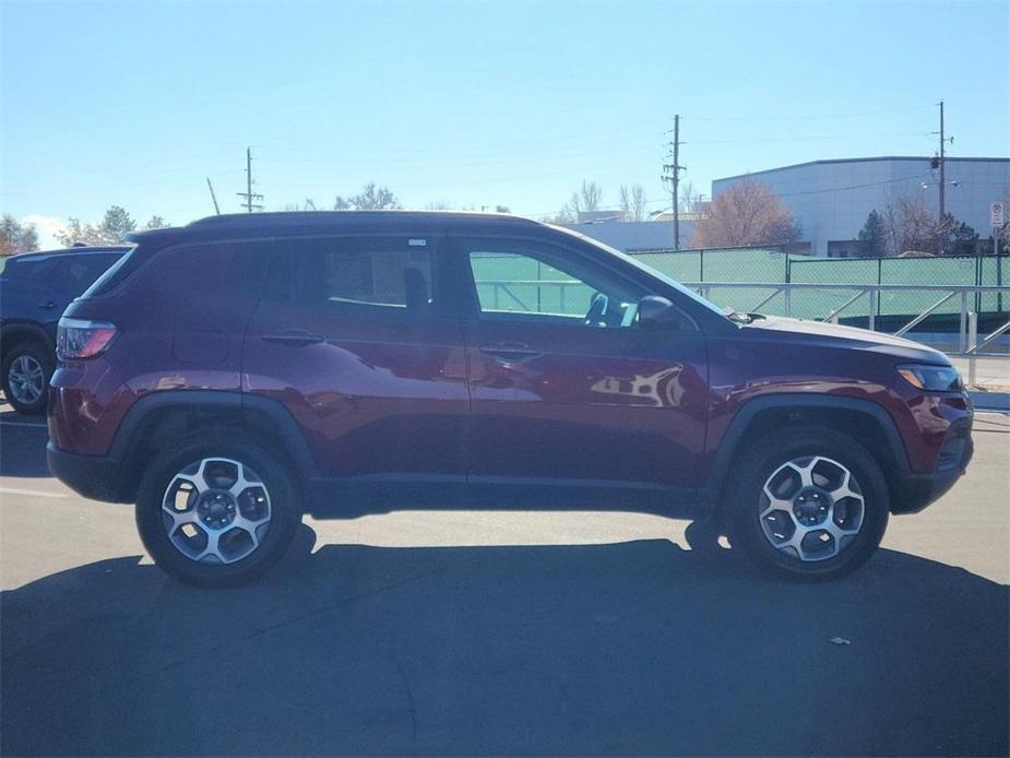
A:
<svg viewBox="0 0 1010 758">
<path fill-rule="evenodd" d="M 899 469 L 900 474 L 907 475 L 910 472 L 908 454 L 905 445 L 902 441 L 901 434 L 898 431 L 898 425 L 882 406 L 869 400 L 859 398 L 848 398 L 845 395 L 791 392 L 783 394 L 765 395 L 754 398 L 744 403 L 736 412 L 729 426 L 723 434 L 722 440 L 709 467 L 709 474 L 705 477 L 705 489 L 713 496 L 720 491 L 725 481 L 726 472 L 734 457 L 740 448 L 747 442 L 747 427 L 758 416 L 765 411 L 804 411 L 824 408 L 831 411 L 845 411 L 849 413 L 863 414 L 871 419 L 887 441 L 890 448 L 891 457 Z"/>
</svg>

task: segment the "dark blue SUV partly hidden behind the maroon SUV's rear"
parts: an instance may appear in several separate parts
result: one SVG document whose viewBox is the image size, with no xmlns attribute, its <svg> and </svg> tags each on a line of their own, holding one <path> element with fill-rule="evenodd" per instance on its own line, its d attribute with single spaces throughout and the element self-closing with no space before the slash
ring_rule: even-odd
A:
<svg viewBox="0 0 1010 758">
<path fill-rule="evenodd" d="M 80 247 L 8 259 L 0 274 L 0 382 L 15 411 L 46 412 L 60 315 L 126 250 Z"/>
</svg>

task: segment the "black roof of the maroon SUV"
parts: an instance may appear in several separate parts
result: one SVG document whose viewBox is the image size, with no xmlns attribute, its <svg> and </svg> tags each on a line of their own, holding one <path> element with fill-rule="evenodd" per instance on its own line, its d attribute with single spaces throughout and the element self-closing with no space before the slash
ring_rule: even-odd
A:
<svg viewBox="0 0 1010 758">
<path fill-rule="evenodd" d="M 312 234 L 324 232 L 437 233 L 449 227 L 475 232 L 478 228 L 520 226 L 539 227 L 539 222 L 507 213 L 465 213 L 448 211 L 287 211 L 280 213 L 226 213 L 198 218 L 186 226 L 151 229 L 131 234 L 132 241 L 157 244 L 176 239 L 213 239 L 229 237 Z"/>
</svg>

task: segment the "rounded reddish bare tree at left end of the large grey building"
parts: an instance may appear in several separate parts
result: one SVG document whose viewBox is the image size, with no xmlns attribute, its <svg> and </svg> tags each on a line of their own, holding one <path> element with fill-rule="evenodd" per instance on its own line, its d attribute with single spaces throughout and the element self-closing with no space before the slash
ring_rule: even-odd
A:
<svg viewBox="0 0 1010 758">
<path fill-rule="evenodd" d="M 765 185 L 746 178 L 712 201 L 709 214 L 694 226 L 691 245 L 787 245 L 799 235 L 799 225 L 779 196 Z"/>
</svg>

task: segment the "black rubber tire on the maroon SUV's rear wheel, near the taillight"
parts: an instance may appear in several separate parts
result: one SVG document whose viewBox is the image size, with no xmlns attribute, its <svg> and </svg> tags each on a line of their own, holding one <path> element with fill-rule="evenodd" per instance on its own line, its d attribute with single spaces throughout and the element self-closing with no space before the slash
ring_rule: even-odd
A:
<svg viewBox="0 0 1010 758">
<path fill-rule="evenodd" d="M 157 566 L 176 579 L 212 588 L 248 582 L 284 556 L 301 523 L 297 493 L 283 459 L 278 460 L 276 454 L 269 453 L 257 442 L 242 439 L 242 435 L 241 430 L 236 430 L 234 435 L 217 433 L 187 438 L 157 458 L 141 478 L 135 509 L 138 531 Z M 194 462 L 217 458 L 237 461 L 259 475 L 269 493 L 270 520 L 248 555 L 234 562 L 197 562 L 183 555 L 169 538 L 166 524 L 170 523 L 170 517 L 164 514 L 162 505 L 169 485 L 177 481 L 177 474 Z M 197 501 L 199 498 L 194 498 Z M 195 508 L 194 505 L 192 510 L 195 511 Z M 211 533 L 202 525 L 200 529 L 204 535 Z M 219 533 L 228 531 L 222 529 Z M 247 531 L 239 536 L 248 538 L 248 534 Z"/>
</svg>

